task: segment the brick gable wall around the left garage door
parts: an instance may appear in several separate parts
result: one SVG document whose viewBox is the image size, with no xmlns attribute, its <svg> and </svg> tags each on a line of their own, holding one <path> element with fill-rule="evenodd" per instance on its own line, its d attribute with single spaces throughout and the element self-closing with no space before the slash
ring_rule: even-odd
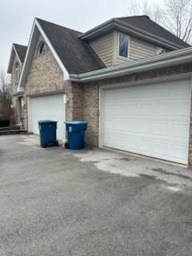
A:
<svg viewBox="0 0 192 256">
<path fill-rule="evenodd" d="M 79 86 L 72 87 L 71 82 L 65 82 L 63 73 L 55 61 L 50 49 L 44 54 L 38 54 L 38 44 L 42 41 L 39 35 L 38 43 L 26 78 L 24 93 L 24 125 L 27 127 L 27 97 L 42 94 L 64 93 L 67 97 L 66 119 L 78 118 L 81 115 L 81 101 L 78 101 Z"/>
</svg>

